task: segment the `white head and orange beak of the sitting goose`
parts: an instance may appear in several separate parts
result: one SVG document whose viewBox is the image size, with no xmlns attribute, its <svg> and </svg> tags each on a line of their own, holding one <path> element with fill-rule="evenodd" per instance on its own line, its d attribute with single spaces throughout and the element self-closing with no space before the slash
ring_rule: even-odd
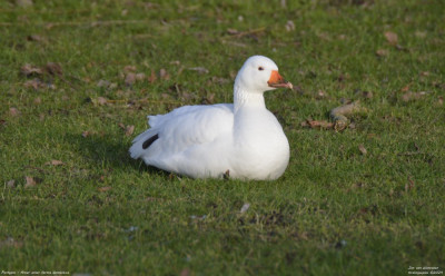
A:
<svg viewBox="0 0 445 276">
<path fill-rule="evenodd" d="M 293 88 L 293 85 L 278 73 L 277 65 L 264 56 L 253 56 L 246 60 L 238 71 L 235 86 L 258 93 L 276 88 Z"/>
</svg>

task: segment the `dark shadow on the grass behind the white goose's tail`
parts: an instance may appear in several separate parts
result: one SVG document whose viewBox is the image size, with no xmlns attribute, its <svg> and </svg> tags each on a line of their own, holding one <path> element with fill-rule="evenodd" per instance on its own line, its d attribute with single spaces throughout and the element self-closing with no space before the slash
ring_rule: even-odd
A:
<svg viewBox="0 0 445 276">
<path fill-rule="evenodd" d="M 150 175 L 169 176 L 169 172 L 147 166 L 140 159 L 132 159 L 128 152 L 130 145 L 123 140 L 117 140 L 115 136 L 96 134 L 83 137 L 78 134 L 67 134 L 65 140 L 71 145 L 71 149 L 77 155 L 81 155 L 88 161 L 96 162 L 98 167 L 134 169 L 139 172 L 147 171 Z"/>
</svg>

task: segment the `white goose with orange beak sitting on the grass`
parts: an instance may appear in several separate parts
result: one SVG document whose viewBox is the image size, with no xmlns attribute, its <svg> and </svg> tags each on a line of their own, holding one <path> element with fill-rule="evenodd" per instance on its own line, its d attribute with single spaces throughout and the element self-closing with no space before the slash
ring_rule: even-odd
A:
<svg viewBox="0 0 445 276">
<path fill-rule="evenodd" d="M 275 62 L 250 57 L 235 79 L 234 103 L 148 116 L 150 128 L 135 138 L 130 155 L 192 178 L 277 179 L 289 161 L 289 142 L 263 93 L 280 87 L 291 83 Z"/>
</svg>

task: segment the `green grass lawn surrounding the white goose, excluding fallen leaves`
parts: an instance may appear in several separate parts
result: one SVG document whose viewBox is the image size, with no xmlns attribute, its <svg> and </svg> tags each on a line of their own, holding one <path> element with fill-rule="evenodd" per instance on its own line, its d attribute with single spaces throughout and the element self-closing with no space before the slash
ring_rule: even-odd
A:
<svg viewBox="0 0 445 276">
<path fill-rule="evenodd" d="M 34 2 L 0 3 L 0 269 L 444 270 L 443 1 Z M 237 37 L 228 29 L 256 32 Z M 398 34 L 398 47 L 386 31 Z M 212 93 L 214 102 L 231 101 L 234 76 L 258 53 L 303 91 L 266 95 L 291 148 L 280 179 L 194 180 L 129 158 L 147 115 L 211 101 Z M 20 73 L 26 63 L 48 62 L 60 63 L 62 75 Z M 126 66 L 146 76 L 165 69 L 169 78 L 128 86 Z M 42 85 L 27 87 L 34 78 Z M 99 87 L 100 80 L 115 85 Z M 319 90 L 327 97 L 318 98 Z M 407 91 L 426 93 L 405 101 Z M 100 105 L 98 97 L 116 101 Z M 342 99 L 366 108 L 350 118 L 355 128 L 301 127 L 307 118 L 328 120 Z M 135 134 L 126 136 L 119 124 Z M 51 160 L 63 165 L 46 165 Z M 27 176 L 34 187 L 26 187 Z"/>
</svg>

